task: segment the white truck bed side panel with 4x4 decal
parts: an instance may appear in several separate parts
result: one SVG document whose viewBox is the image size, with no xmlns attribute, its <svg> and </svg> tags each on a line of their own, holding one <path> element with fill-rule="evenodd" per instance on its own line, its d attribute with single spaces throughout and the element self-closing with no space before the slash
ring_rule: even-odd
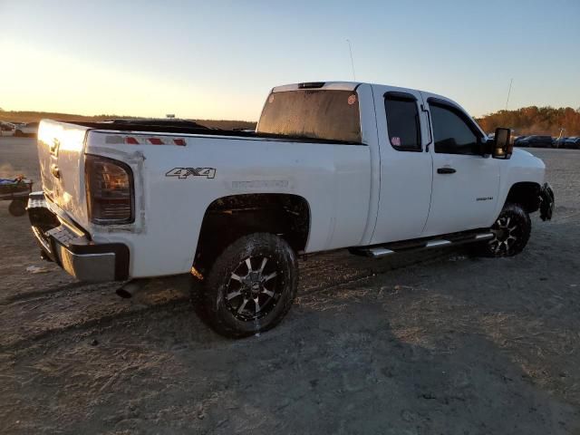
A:
<svg viewBox="0 0 580 435">
<path fill-rule="evenodd" d="M 188 272 L 206 209 L 229 195 L 305 198 L 311 213 L 306 252 L 361 243 L 370 200 L 368 146 L 208 136 L 185 137 L 186 146 L 126 145 L 119 134 L 90 131 L 86 152 L 131 166 L 136 220 L 91 225 L 90 232 L 98 243 L 121 242 L 138 253 L 131 255 L 133 277 Z M 189 169 L 183 178 L 170 175 Z"/>
</svg>

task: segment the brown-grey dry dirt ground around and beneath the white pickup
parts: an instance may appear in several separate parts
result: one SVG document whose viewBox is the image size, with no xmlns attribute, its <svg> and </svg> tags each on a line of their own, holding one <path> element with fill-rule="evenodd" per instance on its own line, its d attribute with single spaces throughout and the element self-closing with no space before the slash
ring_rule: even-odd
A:
<svg viewBox="0 0 580 435">
<path fill-rule="evenodd" d="M 580 151 L 533 152 L 557 208 L 523 254 L 312 256 L 285 321 L 241 341 L 172 281 L 74 282 L 0 202 L 0 431 L 579 434 Z M 0 167 L 38 179 L 34 140 L 0 140 Z"/>
</svg>

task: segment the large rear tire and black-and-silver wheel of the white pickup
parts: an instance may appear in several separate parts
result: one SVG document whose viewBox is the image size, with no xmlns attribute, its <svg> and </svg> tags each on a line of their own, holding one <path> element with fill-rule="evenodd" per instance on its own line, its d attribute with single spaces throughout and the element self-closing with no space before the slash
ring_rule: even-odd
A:
<svg viewBox="0 0 580 435">
<path fill-rule="evenodd" d="M 204 311 L 222 335 L 246 337 L 278 324 L 298 286 L 295 252 L 280 237 L 254 233 L 238 238 L 211 267 Z"/>
</svg>

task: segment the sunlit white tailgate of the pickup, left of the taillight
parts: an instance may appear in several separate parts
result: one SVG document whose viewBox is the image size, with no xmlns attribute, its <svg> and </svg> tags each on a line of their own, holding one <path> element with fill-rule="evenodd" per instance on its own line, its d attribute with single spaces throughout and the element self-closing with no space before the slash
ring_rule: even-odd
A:
<svg viewBox="0 0 580 435">
<path fill-rule="evenodd" d="M 38 160 L 43 192 L 74 221 L 87 225 L 84 143 L 88 127 L 43 120 L 38 129 Z"/>
</svg>

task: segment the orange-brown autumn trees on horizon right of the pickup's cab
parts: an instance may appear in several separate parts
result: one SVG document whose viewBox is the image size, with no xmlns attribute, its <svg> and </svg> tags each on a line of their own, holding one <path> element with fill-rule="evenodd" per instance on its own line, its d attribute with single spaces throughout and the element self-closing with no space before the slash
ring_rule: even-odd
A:
<svg viewBox="0 0 580 435">
<path fill-rule="evenodd" d="M 481 128 L 491 133 L 498 127 L 508 127 L 517 136 L 541 134 L 559 136 L 580 136 L 580 108 L 571 107 L 522 107 L 515 111 L 496 111 L 478 120 Z"/>
</svg>

